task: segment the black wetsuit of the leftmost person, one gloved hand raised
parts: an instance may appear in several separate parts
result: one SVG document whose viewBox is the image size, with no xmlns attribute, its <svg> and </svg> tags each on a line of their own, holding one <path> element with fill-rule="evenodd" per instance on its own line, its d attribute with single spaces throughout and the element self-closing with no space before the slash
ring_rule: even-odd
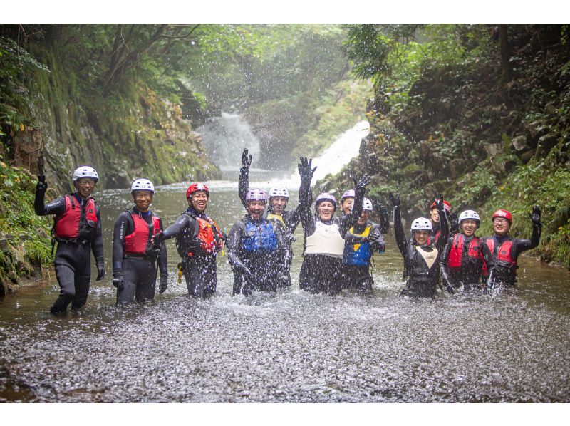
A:
<svg viewBox="0 0 570 426">
<path fill-rule="evenodd" d="M 36 191 L 34 210 L 39 216 L 55 214 L 56 217 L 66 212 L 66 197 L 59 197 L 44 205 L 45 192 Z M 76 239 L 66 241 L 56 239 L 56 277 L 60 286 L 59 297 L 51 307 L 51 313 L 65 312 L 69 303 L 71 308 L 81 308 L 87 301 L 91 279 L 91 256 L 93 252 L 98 270 L 103 270 L 105 260 L 103 258 L 103 234 L 101 231 L 101 217 L 99 206 L 95 204 L 97 225 L 92 229 L 86 224 L 85 207 L 86 199 L 76 193 L 71 194 L 74 202 L 81 206 L 81 219 L 79 222 L 79 234 Z"/>
</svg>

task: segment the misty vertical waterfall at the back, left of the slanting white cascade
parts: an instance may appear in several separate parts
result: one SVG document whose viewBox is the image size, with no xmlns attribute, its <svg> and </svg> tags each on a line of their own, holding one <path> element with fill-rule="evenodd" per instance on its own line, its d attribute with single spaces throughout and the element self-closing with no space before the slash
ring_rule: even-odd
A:
<svg viewBox="0 0 570 426">
<path fill-rule="evenodd" d="M 259 161 L 259 140 L 239 114 L 223 113 L 209 118 L 197 129 L 202 134 L 209 160 L 220 170 L 237 170 L 242 166 L 244 148 L 252 155 L 252 166 Z"/>
</svg>

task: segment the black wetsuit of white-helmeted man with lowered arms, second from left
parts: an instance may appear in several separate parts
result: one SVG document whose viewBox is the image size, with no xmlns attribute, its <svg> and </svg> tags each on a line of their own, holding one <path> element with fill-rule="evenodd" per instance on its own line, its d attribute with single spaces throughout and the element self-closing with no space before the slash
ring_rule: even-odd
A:
<svg viewBox="0 0 570 426">
<path fill-rule="evenodd" d="M 117 290 L 117 304 L 130 303 L 133 298 L 140 303 L 155 297 L 157 260 L 160 276 L 167 276 L 167 254 L 164 241 L 147 254 L 131 254 L 125 251 L 125 237 L 133 234 L 133 214 L 138 214 L 147 224 L 152 224 L 152 212 L 141 213 L 136 207 L 119 214 L 113 229 L 113 277 L 123 277 L 123 289 Z M 162 219 L 160 228 L 162 229 Z M 154 230 L 153 230 L 154 232 Z"/>
</svg>

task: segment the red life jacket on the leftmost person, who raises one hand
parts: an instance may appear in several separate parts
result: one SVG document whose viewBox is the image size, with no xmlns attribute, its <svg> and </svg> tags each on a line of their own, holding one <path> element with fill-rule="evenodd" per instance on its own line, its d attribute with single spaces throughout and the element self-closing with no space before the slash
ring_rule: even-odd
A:
<svg viewBox="0 0 570 426">
<path fill-rule="evenodd" d="M 81 206 L 73 195 L 66 195 L 66 211 L 53 218 L 53 232 L 58 239 L 76 239 L 79 236 L 81 222 Z M 97 227 L 97 214 L 95 213 L 95 199 L 88 198 L 85 206 L 84 227 L 89 227 L 88 235 Z"/>
</svg>

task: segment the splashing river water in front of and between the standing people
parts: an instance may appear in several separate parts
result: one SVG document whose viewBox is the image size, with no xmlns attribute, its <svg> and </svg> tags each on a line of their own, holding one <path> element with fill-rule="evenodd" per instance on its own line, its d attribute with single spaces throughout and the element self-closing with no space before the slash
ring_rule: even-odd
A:
<svg viewBox="0 0 570 426">
<path fill-rule="evenodd" d="M 280 178 L 252 170 L 252 186 Z M 228 231 L 244 214 L 237 172 L 208 185 L 208 212 Z M 185 209 L 186 187 L 157 188 L 154 210 L 165 224 Z M 232 296 L 232 271 L 220 258 L 216 295 L 195 300 L 177 284 L 168 241 L 167 291 L 117 309 L 112 227 L 130 195 L 95 196 L 108 275 L 93 281 L 81 311 L 57 318 L 48 314 L 53 276 L 0 298 L 0 401 L 570 402 L 564 269 L 522 257 L 516 291 L 410 301 L 398 296 L 403 261 L 390 227 L 370 296 L 313 295 L 299 290 L 299 227 L 291 289 Z"/>
</svg>

